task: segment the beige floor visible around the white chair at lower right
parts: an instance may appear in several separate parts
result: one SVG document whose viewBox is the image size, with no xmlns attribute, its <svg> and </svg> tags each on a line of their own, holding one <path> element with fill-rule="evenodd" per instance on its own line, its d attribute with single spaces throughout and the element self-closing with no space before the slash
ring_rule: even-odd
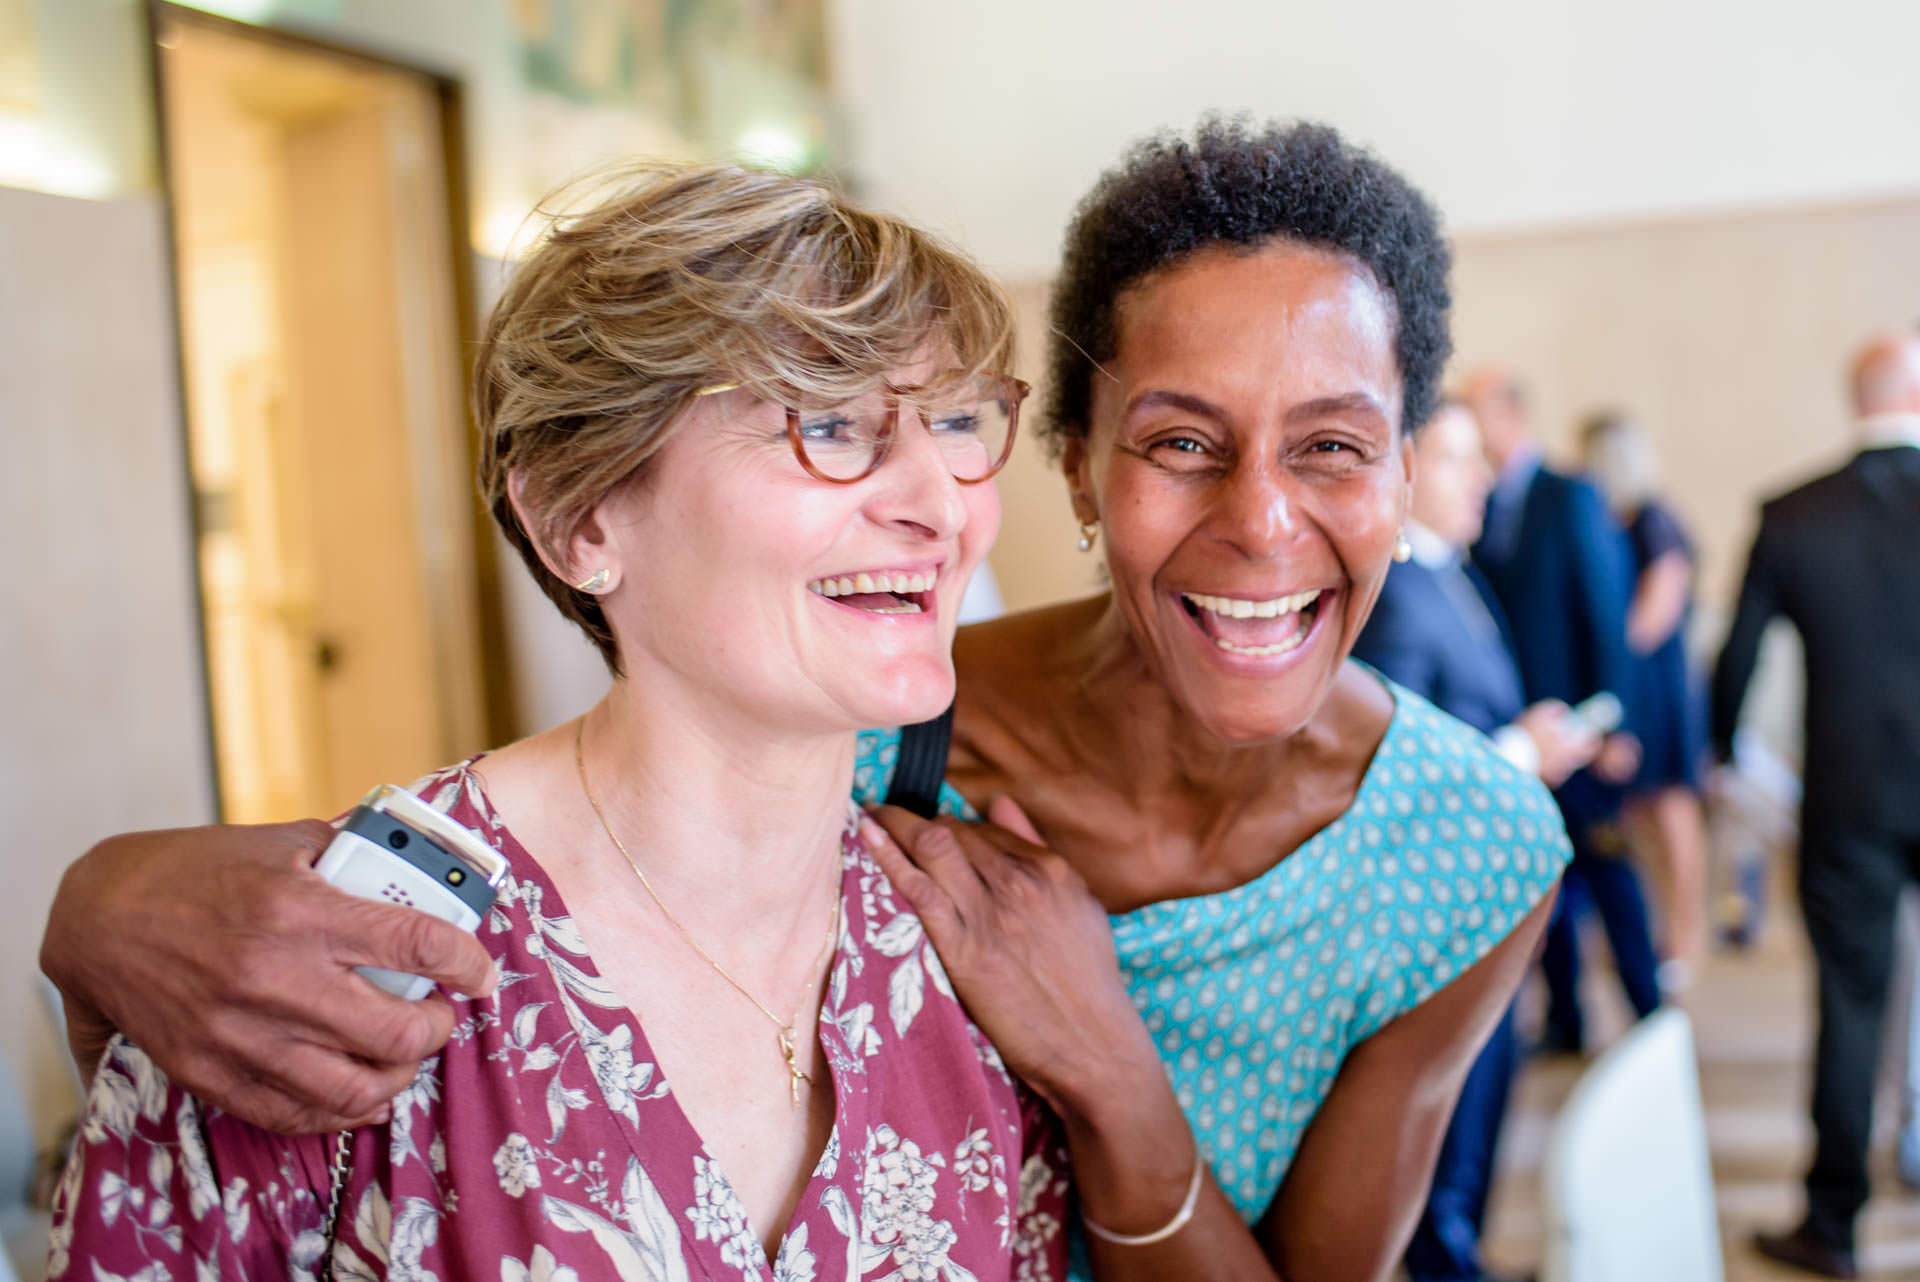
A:
<svg viewBox="0 0 1920 1282">
<path fill-rule="evenodd" d="M 1801 1211 L 1799 1178 L 1812 1144 L 1807 1086 L 1812 1048 L 1811 960 L 1776 914 L 1749 952 L 1716 954 L 1682 1004 L 1693 1017 L 1701 1096 L 1720 1209 L 1726 1282 L 1805 1280 L 1755 1255 L 1755 1228 L 1784 1228 Z M 1619 1033 L 1626 1009 L 1611 973 L 1592 977 L 1588 1009 Z M 1572 1059 L 1530 1061 L 1515 1092 L 1501 1175 L 1488 1213 L 1488 1265 L 1526 1276 L 1540 1263 L 1540 1157 L 1553 1113 L 1572 1088 Z M 1860 1224 L 1860 1267 L 1872 1278 L 1920 1280 L 1920 1194 L 1893 1176 L 1897 1105 L 1885 1098 L 1874 1150 L 1874 1199 Z"/>
</svg>

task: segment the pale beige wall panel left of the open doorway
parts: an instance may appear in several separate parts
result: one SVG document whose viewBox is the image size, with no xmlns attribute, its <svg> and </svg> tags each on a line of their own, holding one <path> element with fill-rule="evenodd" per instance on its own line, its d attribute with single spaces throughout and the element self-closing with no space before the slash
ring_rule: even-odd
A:
<svg viewBox="0 0 1920 1282">
<path fill-rule="evenodd" d="M 159 207 L 0 188 L 0 1046 L 50 1138 L 38 1002 L 61 869 L 213 818 Z"/>
</svg>

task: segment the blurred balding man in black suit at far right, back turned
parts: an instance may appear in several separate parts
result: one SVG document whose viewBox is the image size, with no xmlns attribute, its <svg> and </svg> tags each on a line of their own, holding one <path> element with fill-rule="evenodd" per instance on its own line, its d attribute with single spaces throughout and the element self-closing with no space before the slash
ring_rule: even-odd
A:
<svg viewBox="0 0 1920 1282">
<path fill-rule="evenodd" d="M 1855 1276 L 1874 1071 L 1901 887 L 1920 875 L 1920 338 L 1853 365 L 1859 453 L 1761 509 L 1740 608 L 1713 676 L 1713 745 L 1732 754 L 1761 633 L 1807 649 L 1799 900 L 1818 967 L 1807 1219 L 1766 1255 Z"/>
</svg>

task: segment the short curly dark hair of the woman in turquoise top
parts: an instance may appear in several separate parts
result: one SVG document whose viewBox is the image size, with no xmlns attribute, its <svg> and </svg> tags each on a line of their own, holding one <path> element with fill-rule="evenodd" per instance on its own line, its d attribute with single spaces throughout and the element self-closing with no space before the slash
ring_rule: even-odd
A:
<svg viewBox="0 0 1920 1282">
<path fill-rule="evenodd" d="M 1085 436 L 1092 372 L 1114 357 L 1119 296 L 1142 276 L 1212 246 L 1290 240 L 1367 267 L 1394 303 L 1400 422 L 1434 411 L 1448 332 L 1440 219 L 1398 173 L 1327 125 L 1254 127 L 1206 117 L 1192 140 L 1160 134 L 1100 175 L 1068 225 L 1048 340 L 1050 392 L 1041 432 L 1054 455 Z"/>
</svg>

